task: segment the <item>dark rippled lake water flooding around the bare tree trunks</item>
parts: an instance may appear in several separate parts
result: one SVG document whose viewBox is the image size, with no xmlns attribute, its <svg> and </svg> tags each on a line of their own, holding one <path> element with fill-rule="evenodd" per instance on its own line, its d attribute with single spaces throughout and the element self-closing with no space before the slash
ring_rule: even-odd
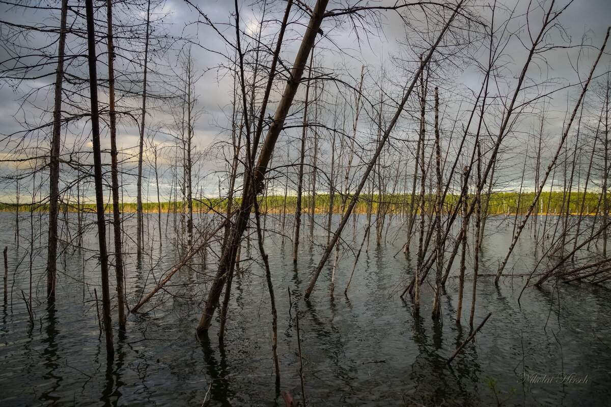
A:
<svg viewBox="0 0 611 407">
<path fill-rule="evenodd" d="M 131 305 L 180 257 L 172 225 L 167 228 L 170 239 L 165 237 L 166 222 L 172 219 L 162 218 L 164 237 L 159 247 L 157 215 L 146 216 L 152 238 L 150 256 L 141 262 L 129 241 L 135 215 L 125 219 L 125 248 L 130 251 L 126 291 Z M 499 286 L 492 277 L 479 278 L 475 326 L 488 312 L 492 316 L 449 366 L 447 359 L 469 336 L 469 270 L 462 325 L 455 323 L 458 279 L 452 275 L 442 298 L 441 321 L 430 317 L 430 284 L 422 286 L 420 315 L 414 316 L 409 295 L 401 299 L 400 294 L 412 276 L 415 251 L 411 258 L 403 253 L 393 257 L 404 243 L 395 219 L 385 245 L 376 247 L 375 234 L 371 237 L 345 297 L 343 290 L 362 240 L 365 218 L 360 215 L 351 243 L 354 251 L 342 250 L 340 256 L 334 297 L 329 295 L 331 257 L 306 302 L 299 298 L 320 259 L 326 234 L 317 228 L 311 244 L 305 218 L 296 265 L 290 240 L 283 243 L 281 236 L 268 234 L 265 248 L 279 321 L 277 386 L 269 294 L 265 270 L 254 261 L 255 241 L 251 249 L 244 243 L 240 271 L 233 279 L 224 345 L 219 345 L 216 335 L 218 315 L 207 338 L 198 339 L 195 333 L 216 271 L 214 265 L 204 267 L 199 257 L 174 276 L 166 292 L 128 317 L 125 333 L 115 331 L 115 362 L 107 366 L 94 292 L 101 298 L 93 216 L 84 220 L 82 248 L 75 247 L 76 233 L 70 231 L 68 236 L 65 231 L 76 215 L 67 217 L 57 300 L 54 308 L 47 309 L 46 214 L 20 214 L 17 247 L 15 213 L 0 213 L 0 240 L 2 247 L 8 247 L 9 266 L 0 333 L 2 406 L 284 406 L 280 391 L 301 399 L 296 317 L 309 406 L 609 406 L 611 290 L 604 285 L 549 281 L 540 289 L 527 288 L 518 302 L 526 278 L 511 274 L 530 273 L 538 261 L 527 231 Z M 324 223 L 326 215 L 320 217 Z M 207 222 L 206 217 L 199 222 Z M 267 226 L 271 229 L 278 222 L 270 215 Z M 482 275 L 496 273 L 511 238 L 511 225 L 506 226 L 502 217 L 491 218 L 486 225 Z M 353 239 L 352 230 L 347 229 L 345 239 Z M 394 239 L 397 233 L 400 239 Z M 72 245 L 64 239 L 72 239 Z M 209 259 L 217 249 L 213 245 Z M 467 265 L 472 267 L 472 260 Z M 34 323 L 26 308 L 30 292 Z M 116 309 L 113 312 L 116 326 Z"/>
</svg>

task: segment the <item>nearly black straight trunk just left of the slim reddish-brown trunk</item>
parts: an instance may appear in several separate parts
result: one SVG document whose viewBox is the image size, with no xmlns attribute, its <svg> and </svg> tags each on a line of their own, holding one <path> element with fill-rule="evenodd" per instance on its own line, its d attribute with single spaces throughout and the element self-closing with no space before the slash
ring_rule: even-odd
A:
<svg viewBox="0 0 611 407">
<path fill-rule="evenodd" d="M 91 134 L 93 142 L 93 178 L 95 179 L 95 209 L 97 213 L 98 243 L 102 278 L 102 320 L 106 335 L 106 355 L 114 358 L 111 322 L 111 295 L 108 284 L 108 252 L 106 251 L 106 223 L 104 221 L 104 192 L 102 185 L 102 159 L 100 148 L 100 114 L 98 112 L 97 57 L 95 54 L 95 27 L 93 26 L 93 0 L 87 0 L 87 47 L 89 48 L 89 89 L 91 99 Z"/>
</svg>

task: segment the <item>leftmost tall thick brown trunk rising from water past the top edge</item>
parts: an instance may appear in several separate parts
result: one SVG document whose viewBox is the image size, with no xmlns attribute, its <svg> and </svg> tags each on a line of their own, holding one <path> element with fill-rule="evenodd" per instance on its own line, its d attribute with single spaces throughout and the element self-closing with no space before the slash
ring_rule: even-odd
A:
<svg viewBox="0 0 611 407">
<path fill-rule="evenodd" d="M 59 214 L 59 146 L 62 128 L 62 84 L 64 83 L 64 55 L 66 46 L 66 20 L 68 0 L 62 0 L 57 45 L 57 69 L 55 73 L 55 95 L 53 107 L 53 134 L 51 135 L 51 157 L 49 160 L 49 239 L 46 256 L 46 296 L 55 298 L 57 274 L 57 216 Z M 17 207 L 17 212 L 19 207 Z"/>
</svg>

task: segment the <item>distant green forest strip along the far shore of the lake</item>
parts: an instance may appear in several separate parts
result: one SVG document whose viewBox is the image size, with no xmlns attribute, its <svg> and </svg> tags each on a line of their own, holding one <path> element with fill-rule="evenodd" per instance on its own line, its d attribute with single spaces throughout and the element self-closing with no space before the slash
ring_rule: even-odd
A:
<svg viewBox="0 0 611 407">
<path fill-rule="evenodd" d="M 492 193 L 488 201 L 488 214 L 525 214 L 532 203 L 534 193 L 517 192 L 495 192 Z M 311 211 L 312 199 L 315 200 L 315 212 L 326 214 L 329 212 L 329 194 L 320 194 L 312 197 L 304 195 L 302 197 L 302 208 L 304 212 Z M 418 196 L 415 196 L 418 199 Z M 469 196 L 472 199 L 472 196 Z M 260 207 L 262 211 L 268 213 L 294 213 L 297 206 L 296 196 L 284 195 L 268 195 L 260 198 Z M 435 196 L 425 196 L 425 211 L 430 212 L 433 209 Z M 486 204 L 486 196 L 482 197 L 483 206 Z M 355 211 L 359 214 L 365 214 L 371 211 L 376 214 L 378 211 L 383 214 L 398 214 L 408 211 L 410 207 L 411 196 L 403 194 L 386 194 L 386 195 L 361 195 Z M 445 198 L 444 207 L 446 211 L 452 211 L 453 206 L 458 201 L 458 195 L 447 195 Z M 611 196 L 607 196 L 607 201 L 611 201 Z M 240 204 L 240 198 L 236 198 L 235 204 Z M 145 212 L 181 212 L 185 211 L 186 203 L 183 201 L 177 202 L 148 202 L 142 204 Z M 417 203 L 415 203 L 417 206 Z M 342 197 L 334 196 L 333 212 L 340 212 L 342 207 Z M 595 214 L 600 212 L 597 210 L 602 207 L 602 196 L 596 192 L 543 192 L 539 202 L 535 207 L 535 212 L 540 214 Z M 16 209 L 20 212 L 47 212 L 48 204 L 20 204 L 18 207 L 15 204 L 0 204 L 0 211 L 14 212 Z M 72 203 L 62 203 L 60 210 L 64 212 L 95 212 L 94 203 L 80 204 L 77 206 Z M 112 206 L 106 205 L 106 211 L 110 212 Z M 121 204 L 122 212 L 136 212 L 136 203 Z M 225 212 L 227 211 L 227 200 L 222 198 L 203 198 L 202 200 L 193 200 L 194 212 Z"/>
</svg>

